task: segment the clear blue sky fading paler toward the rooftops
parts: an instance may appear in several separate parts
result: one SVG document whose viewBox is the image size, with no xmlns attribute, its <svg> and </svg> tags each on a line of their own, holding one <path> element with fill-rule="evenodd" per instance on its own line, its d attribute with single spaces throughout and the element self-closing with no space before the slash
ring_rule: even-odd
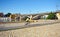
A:
<svg viewBox="0 0 60 37">
<path fill-rule="evenodd" d="M 0 0 L 0 12 L 36 14 L 60 10 L 60 0 Z"/>
</svg>

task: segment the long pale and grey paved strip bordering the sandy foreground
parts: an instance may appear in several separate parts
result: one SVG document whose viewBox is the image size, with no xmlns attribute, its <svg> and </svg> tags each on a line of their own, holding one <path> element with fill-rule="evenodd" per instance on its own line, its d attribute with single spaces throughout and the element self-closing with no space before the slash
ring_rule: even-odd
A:
<svg viewBox="0 0 60 37">
<path fill-rule="evenodd" d="M 54 23 L 60 23 L 58 20 L 52 20 L 52 21 L 41 21 L 36 23 L 6 23 L 0 25 L 0 31 L 1 30 L 12 30 L 12 29 L 19 29 L 19 28 L 26 28 L 26 27 L 33 27 L 33 26 L 42 26 L 42 25 L 48 25 L 48 24 L 54 24 Z"/>
</svg>

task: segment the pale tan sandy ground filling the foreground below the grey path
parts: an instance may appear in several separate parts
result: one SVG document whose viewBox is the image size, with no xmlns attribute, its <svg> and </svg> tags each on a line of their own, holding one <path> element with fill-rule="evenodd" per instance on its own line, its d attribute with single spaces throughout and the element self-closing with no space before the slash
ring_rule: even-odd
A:
<svg viewBox="0 0 60 37">
<path fill-rule="evenodd" d="M 0 37 L 60 37 L 60 23 L 1 31 Z"/>
</svg>

